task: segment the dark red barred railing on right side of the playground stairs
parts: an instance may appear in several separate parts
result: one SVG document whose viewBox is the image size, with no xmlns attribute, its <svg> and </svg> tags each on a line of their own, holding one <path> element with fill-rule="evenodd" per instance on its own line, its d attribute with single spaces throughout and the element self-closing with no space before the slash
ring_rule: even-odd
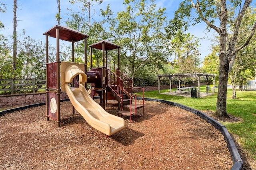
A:
<svg viewBox="0 0 256 170">
<path fill-rule="evenodd" d="M 129 96 L 132 96 L 132 79 L 125 75 L 122 71 L 116 69 L 116 75 L 120 77 L 123 81 L 123 91 Z"/>
</svg>

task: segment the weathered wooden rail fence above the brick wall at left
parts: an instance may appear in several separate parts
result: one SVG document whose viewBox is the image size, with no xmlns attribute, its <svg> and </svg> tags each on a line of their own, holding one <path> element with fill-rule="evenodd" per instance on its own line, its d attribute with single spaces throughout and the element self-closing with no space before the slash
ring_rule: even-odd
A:
<svg viewBox="0 0 256 170">
<path fill-rule="evenodd" d="M 0 95 L 36 93 L 45 88 L 45 79 L 0 79 Z"/>
</svg>

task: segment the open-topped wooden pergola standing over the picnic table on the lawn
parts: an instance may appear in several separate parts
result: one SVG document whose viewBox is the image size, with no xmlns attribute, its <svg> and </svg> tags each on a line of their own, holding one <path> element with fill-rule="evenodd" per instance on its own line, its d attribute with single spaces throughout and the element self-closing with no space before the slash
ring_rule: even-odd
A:
<svg viewBox="0 0 256 170">
<path fill-rule="evenodd" d="M 215 87 L 215 76 L 216 74 L 210 73 L 181 73 L 181 74 L 168 74 L 168 75 L 157 75 L 158 77 L 158 93 L 160 93 L 160 79 L 162 77 L 169 77 L 170 79 L 170 92 L 172 90 L 172 78 L 177 77 L 179 79 L 179 88 L 180 88 L 180 79 L 186 77 L 196 77 L 197 78 L 197 96 L 200 97 L 200 77 L 206 77 L 207 86 L 209 77 L 213 77 L 213 86 Z M 206 88 L 206 93 L 208 94 L 208 88 Z M 213 93 L 215 93 L 215 88 L 213 88 Z"/>
</svg>

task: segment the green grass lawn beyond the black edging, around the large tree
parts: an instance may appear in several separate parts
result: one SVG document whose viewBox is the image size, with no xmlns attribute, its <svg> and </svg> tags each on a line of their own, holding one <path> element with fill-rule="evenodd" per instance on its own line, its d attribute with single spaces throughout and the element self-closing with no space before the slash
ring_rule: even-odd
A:
<svg viewBox="0 0 256 170">
<path fill-rule="evenodd" d="M 172 89 L 172 91 L 174 90 Z M 168 91 L 169 89 L 160 92 Z M 200 87 L 200 92 L 205 91 L 205 86 Z M 141 96 L 141 93 L 138 93 L 138 95 Z M 146 91 L 144 97 L 164 99 L 200 111 L 216 111 L 217 93 L 203 98 L 190 98 L 158 94 L 158 91 Z M 236 97 L 237 99 L 232 99 L 232 90 L 228 89 L 227 112 L 242 118 L 243 121 L 241 123 L 220 123 L 226 126 L 233 137 L 236 137 L 238 144 L 250 154 L 248 156 L 256 161 L 256 91 L 236 91 Z"/>
</svg>

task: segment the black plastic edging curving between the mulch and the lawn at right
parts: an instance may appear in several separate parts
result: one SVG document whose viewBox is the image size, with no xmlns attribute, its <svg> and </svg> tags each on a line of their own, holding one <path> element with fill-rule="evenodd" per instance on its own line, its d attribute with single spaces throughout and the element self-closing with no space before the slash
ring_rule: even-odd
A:
<svg viewBox="0 0 256 170">
<path fill-rule="evenodd" d="M 137 99 L 142 100 L 142 97 L 137 97 Z M 166 100 L 162 100 L 162 99 L 144 98 L 144 100 L 146 100 L 146 101 L 156 101 L 156 102 L 166 103 L 168 105 L 177 106 L 177 107 L 180 107 L 181 109 L 184 109 L 186 111 L 190 111 L 190 112 L 200 116 L 202 119 L 206 120 L 208 123 L 210 123 L 215 128 L 220 130 L 220 132 L 223 134 L 224 139 L 226 140 L 226 143 L 227 143 L 227 147 L 230 151 L 232 161 L 233 161 L 233 166 L 232 166 L 231 170 L 241 170 L 243 168 L 243 161 L 240 157 L 240 154 L 238 153 L 236 145 L 234 144 L 234 141 L 233 141 L 232 137 L 230 136 L 227 128 L 224 125 L 222 125 L 221 123 L 219 123 L 218 121 L 214 120 L 212 117 L 209 117 L 208 115 L 206 115 L 205 113 L 203 113 L 201 111 L 198 111 L 198 110 L 193 109 L 191 107 L 187 107 L 185 105 L 181 105 L 179 103 L 174 103 L 172 101 L 166 101 Z"/>
</svg>

